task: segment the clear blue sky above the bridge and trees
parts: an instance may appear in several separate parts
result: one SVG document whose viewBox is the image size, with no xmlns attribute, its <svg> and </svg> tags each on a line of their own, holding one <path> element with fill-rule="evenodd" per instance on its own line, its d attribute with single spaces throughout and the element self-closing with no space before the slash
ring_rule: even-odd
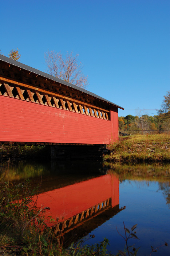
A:
<svg viewBox="0 0 170 256">
<path fill-rule="evenodd" d="M 79 54 L 89 91 L 119 116 L 155 113 L 170 90 L 169 0 L 1 1 L 0 50 L 46 71 L 44 53 Z M 153 115 L 153 114 L 152 114 Z"/>
</svg>

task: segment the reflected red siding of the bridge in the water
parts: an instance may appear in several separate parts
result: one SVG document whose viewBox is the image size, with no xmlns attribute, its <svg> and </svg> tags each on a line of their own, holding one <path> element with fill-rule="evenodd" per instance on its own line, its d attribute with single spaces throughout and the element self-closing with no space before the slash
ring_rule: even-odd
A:
<svg viewBox="0 0 170 256">
<path fill-rule="evenodd" d="M 50 207 L 50 216 L 55 220 L 57 217 L 60 222 L 108 198 L 111 198 L 112 207 L 119 204 L 119 177 L 114 174 L 41 193 L 37 207 Z"/>
</svg>

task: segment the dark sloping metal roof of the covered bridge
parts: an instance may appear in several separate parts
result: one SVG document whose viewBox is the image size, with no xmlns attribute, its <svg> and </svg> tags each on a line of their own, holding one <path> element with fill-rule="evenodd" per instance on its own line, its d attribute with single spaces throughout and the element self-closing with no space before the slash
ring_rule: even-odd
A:
<svg viewBox="0 0 170 256">
<path fill-rule="evenodd" d="M 11 65 L 14 65 L 14 66 L 16 66 L 16 67 L 25 69 L 25 70 L 27 70 L 27 71 L 29 71 L 29 72 L 32 72 L 32 73 L 36 74 L 36 75 L 43 76 L 43 77 L 46 78 L 46 79 L 48 78 L 48 79 L 50 79 L 50 80 L 52 80 L 52 81 L 55 81 L 55 82 L 64 84 L 64 85 L 66 85 L 66 86 L 69 86 L 69 87 L 71 87 L 71 88 L 74 88 L 74 89 L 76 89 L 76 90 L 82 91 L 83 93 L 86 93 L 86 94 L 91 95 L 91 96 L 93 96 L 93 97 L 95 97 L 95 98 L 101 99 L 101 100 L 103 100 L 103 101 L 105 101 L 105 102 L 111 103 L 112 105 L 117 106 L 118 108 L 124 110 L 124 108 L 122 108 L 122 107 L 116 105 L 115 103 L 113 103 L 113 102 L 111 102 L 111 101 L 107 101 L 107 99 L 104 99 L 104 98 L 102 98 L 102 97 L 100 97 L 100 96 L 98 96 L 98 95 L 96 95 L 96 94 L 94 94 L 94 93 L 91 93 L 90 91 L 87 91 L 87 90 L 85 90 L 85 89 L 83 89 L 83 88 L 81 88 L 81 87 L 79 87 L 79 86 L 74 85 L 74 84 L 68 83 L 68 82 L 66 82 L 66 81 L 64 81 L 64 80 L 62 80 L 62 79 L 56 78 L 55 76 L 49 75 L 49 74 L 47 74 L 47 73 L 45 73 L 45 72 L 39 71 L 38 69 L 29 67 L 29 66 L 27 66 L 27 65 L 25 65 L 25 64 L 23 64 L 23 63 L 20 63 L 19 61 L 12 60 L 12 59 L 10 59 L 10 58 L 8 58 L 8 57 L 6 57 L 6 56 L 4 56 L 4 55 L 1 55 L 1 54 L 0 54 L 0 60 L 4 61 L 4 62 L 6 62 L 6 63 L 9 63 L 9 64 L 11 64 Z"/>
</svg>

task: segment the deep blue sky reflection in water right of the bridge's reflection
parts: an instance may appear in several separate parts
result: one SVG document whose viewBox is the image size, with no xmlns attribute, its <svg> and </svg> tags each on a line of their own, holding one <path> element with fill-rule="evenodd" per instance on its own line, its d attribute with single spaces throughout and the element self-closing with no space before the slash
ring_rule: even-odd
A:
<svg viewBox="0 0 170 256">
<path fill-rule="evenodd" d="M 135 231 L 140 240 L 131 239 L 129 245 L 135 243 L 137 248 L 141 246 L 139 256 L 149 255 L 151 245 L 157 247 L 165 241 L 170 245 L 170 209 L 159 189 L 159 182 L 123 181 L 119 184 L 119 202 L 119 207 L 126 206 L 126 209 L 92 231 L 96 236 L 95 242 L 107 237 L 113 253 L 123 249 L 125 243 L 117 233 L 116 226 L 124 235 L 124 221 L 129 229 L 138 224 Z M 156 255 L 162 256 L 163 253 L 169 255 L 170 246 L 160 248 Z"/>
</svg>

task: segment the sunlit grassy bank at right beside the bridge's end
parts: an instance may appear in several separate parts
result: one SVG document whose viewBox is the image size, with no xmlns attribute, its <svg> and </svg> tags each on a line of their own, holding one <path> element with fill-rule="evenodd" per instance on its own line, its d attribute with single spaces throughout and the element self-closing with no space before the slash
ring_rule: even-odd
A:
<svg viewBox="0 0 170 256">
<path fill-rule="evenodd" d="M 170 135 L 134 135 L 107 145 L 108 162 L 170 162 Z"/>
</svg>

